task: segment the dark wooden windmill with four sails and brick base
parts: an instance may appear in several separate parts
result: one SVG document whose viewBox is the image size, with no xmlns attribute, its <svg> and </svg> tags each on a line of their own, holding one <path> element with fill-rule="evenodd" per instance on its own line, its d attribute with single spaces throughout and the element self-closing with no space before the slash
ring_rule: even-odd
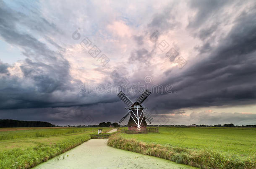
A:
<svg viewBox="0 0 256 169">
<path fill-rule="evenodd" d="M 128 130 L 146 130 L 146 121 L 151 124 L 154 119 L 146 111 L 147 107 L 141 106 L 141 103 L 143 103 L 150 94 L 151 92 L 146 89 L 136 102 L 133 103 L 122 91 L 120 91 L 118 97 L 128 106 L 125 107 L 128 113 L 125 114 L 119 123 L 127 124 Z"/>
</svg>

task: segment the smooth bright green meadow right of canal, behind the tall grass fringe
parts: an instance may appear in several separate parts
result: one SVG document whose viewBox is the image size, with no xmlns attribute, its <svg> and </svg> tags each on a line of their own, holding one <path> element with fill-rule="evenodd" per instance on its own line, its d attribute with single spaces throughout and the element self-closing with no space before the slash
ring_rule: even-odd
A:
<svg viewBox="0 0 256 169">
<path fill-rule="evenodd" d="M 159 127 L 159 133 L 122 134 L 122 136 L 146 143 L 212 149 L 240 157 L 255 156 L 256 153 L 255 128 Z"/>
</svg>

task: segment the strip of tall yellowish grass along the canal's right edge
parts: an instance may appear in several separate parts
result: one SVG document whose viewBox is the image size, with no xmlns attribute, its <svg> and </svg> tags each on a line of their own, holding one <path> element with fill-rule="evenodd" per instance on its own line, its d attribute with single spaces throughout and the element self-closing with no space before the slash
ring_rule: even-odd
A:
<svg viewBox="0 0 256 169">
<path fill-rule="evenodd" d="M 238 156 L 224 156 L 210 149 L 188 149 L 178 146 L 150 144 L 135 139 L 125 139 L 120 134 L 113 134 L 107 142 L 108 146 L 133 151 L 145 155 L 187 164 L 203 169 L 255 169 L 255 159 Z"/>
</svg>

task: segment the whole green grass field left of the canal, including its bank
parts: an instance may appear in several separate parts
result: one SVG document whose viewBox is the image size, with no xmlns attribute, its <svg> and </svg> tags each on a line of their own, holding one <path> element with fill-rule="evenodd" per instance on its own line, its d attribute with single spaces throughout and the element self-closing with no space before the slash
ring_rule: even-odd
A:
<svg viewBox="0 0 256 169">
<path fill-rule="evenodd" d="M 104 127 L 103 132 L 112 128 Z M 36 166 L 91 139 L 98 128 L 1 128 L 0 169 Z M 64 158 L 64 157 L 63 157 Z"/>
</svg>

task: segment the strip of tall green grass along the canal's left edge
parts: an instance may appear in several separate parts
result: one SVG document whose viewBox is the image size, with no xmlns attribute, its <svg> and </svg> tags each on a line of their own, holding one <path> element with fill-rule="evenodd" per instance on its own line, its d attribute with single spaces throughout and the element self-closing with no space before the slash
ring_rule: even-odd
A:
<svg viewBox="0 0 256 169">
<path fill-rule="evenodd" d="M 0 151 L 0 169 L 29 169 L 91 139 L 89 134 L 66 136 L 55 144 L 40 143 L 26 149 Z M 63 156 L 63 158 L 65 158 Z"/>
</svg>

